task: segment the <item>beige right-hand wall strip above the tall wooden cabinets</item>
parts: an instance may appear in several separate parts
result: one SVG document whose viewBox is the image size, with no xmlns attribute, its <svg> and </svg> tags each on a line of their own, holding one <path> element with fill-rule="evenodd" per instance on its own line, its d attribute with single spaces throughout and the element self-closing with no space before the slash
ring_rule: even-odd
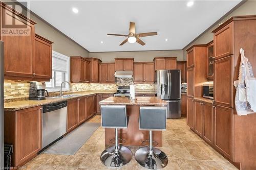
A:
<svg viewBox="0 0 256 170">
<path fill-rule="evenodd" d="M 232 13 L 230 13 L 228 16 L 226 16 L 221 22 L 226 21 L 232 16 L 238 16 L 238 15 L 256 15 L 256 1 L 247 1 L 243 5 L 241 5 L 238 9 L 234 10 Z M 219 26 L 219 24 L 213 26 L 209 29 L 206 33 L 198 37 L 196 40 L 190 42 L 185 48 L 184 48 L 184 56 L 183 58 L 186 60 L 186 49 L 189 48 L 193 44 L 206 44 L 214 39 L 214 34 L 211 33 L 212 30 L 216 29 Z"/>
</svg>

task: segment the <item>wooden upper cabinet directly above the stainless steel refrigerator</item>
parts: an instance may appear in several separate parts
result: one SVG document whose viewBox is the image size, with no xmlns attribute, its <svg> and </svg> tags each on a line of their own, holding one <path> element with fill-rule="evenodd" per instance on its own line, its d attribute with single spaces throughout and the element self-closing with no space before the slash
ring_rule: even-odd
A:
<svg viewBox="0 0 256 170">
<path fill-rule="evenodd" d="M 154 58 L 155 69 L 177 69 L 177 57 L 156 57 Z"/>
</svg>

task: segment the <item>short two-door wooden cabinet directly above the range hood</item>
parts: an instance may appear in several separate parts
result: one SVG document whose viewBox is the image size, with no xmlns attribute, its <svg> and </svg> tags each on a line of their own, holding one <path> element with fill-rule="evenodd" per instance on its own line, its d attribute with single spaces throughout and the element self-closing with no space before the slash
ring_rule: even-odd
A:
<svg viewBox="0 0 256 170">
<path fill-rule="evenodd" d="M 116 71 L 133 71 L 133 58 L 115 58 Z"/>
</svg>

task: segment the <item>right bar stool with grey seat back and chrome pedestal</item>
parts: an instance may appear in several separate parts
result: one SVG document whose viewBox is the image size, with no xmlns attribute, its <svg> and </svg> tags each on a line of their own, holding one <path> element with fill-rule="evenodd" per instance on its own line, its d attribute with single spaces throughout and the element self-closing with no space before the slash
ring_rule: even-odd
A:
<svg viewBox="0 0 256 170">
<path fill-rule="evenodd" d="M 135 153 L 136 161 L 148 169 L 161 169 L 168 164 L 168 158 L 161 150 L 153 148 L 152 131 L 166 130 L 166 107 L 140 107 L 139 128 L 150 131 L 148 147 L 140 148 Z M 142 144 L 144 145 L 144 142 Z"/>
</svg>

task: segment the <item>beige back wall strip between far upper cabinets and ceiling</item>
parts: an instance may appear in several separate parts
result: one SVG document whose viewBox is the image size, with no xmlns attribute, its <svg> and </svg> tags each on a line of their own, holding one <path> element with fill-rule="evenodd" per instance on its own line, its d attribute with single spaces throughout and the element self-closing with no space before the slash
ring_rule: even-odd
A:
<svg viewBox="0 0 256 170">
<path fill-rule="evenodd" d="M 102 62 L 114 62 L 115 58 L 134 58 L 134 61 L 153 61 L 155 57 L 177 57 L 183 61 L 183 50 L 142 51 L 142 52 L 104 52 L 90 53 L 90 57 L 99 58 Z"/>
</svg>

